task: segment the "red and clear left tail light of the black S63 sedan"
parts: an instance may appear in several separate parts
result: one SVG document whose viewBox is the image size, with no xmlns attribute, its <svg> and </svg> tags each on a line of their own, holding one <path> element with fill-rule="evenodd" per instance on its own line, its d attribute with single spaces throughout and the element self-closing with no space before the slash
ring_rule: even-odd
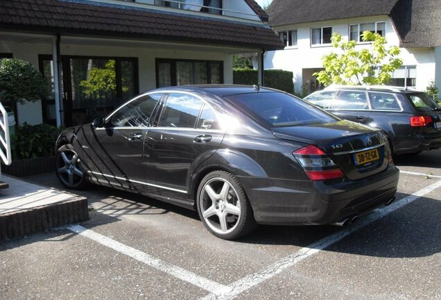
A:
<svg viewBox="0 0 441 300">
<path fill-rule="evenodd" d="M 313 145 L 293 152 L 311 181 L 342 178 L 343 172 L 322 149 Z"/>
</svg>

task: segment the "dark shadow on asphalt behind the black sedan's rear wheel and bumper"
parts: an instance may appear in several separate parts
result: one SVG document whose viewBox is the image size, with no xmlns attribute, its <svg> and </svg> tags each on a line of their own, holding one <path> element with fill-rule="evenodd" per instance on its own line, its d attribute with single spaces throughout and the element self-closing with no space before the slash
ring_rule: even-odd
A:
<svg viewBox="0 0 441 300">
<path fill-rule="evenodd" d="M 397 194 L 399 199 L 409 196 Z M 399 200 L 398 200 L 399 201 Z M 379 208 L 381 210 L 382 208 Z M 377 213 L 374 211 L 373 213 Z M 385 258 L 417 258 L 441 252 L 441 202 L 423 197 L 347 235 L 326 251 Z M 362 222 L 362 216 L 358 222 Z M 356 226 L 259 226 L 239 242 L 310 247 L 334 233 Z"/>
</svg>

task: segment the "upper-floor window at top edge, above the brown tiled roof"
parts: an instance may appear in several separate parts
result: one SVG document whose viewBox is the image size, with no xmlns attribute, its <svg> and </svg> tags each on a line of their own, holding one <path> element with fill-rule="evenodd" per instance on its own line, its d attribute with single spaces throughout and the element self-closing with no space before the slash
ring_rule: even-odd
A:
<svg viewBox="0 0 441 300">
<path fill-rule="evenodd" d="M 222 0 L 155 0 L 155 5 L 222 15 Z"/>
</svg>

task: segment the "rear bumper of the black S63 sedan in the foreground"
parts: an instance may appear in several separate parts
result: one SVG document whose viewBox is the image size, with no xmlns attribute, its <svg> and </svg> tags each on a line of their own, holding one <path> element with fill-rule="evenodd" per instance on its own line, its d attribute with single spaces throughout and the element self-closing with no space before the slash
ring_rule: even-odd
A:
<svg viewBox="0 0 441 300">
<path fill-rule="evenodd" d="M 398 179 L 394 165 L 356 181 L 239 177 L 257 223 L 279 225 L 333 224 L 363 215 L 395 197 Z"/>
</svg>

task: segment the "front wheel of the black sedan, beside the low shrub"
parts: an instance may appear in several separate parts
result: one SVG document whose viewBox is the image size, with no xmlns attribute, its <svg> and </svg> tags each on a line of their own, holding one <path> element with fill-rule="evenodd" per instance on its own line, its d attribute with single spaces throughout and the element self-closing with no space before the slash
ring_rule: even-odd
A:
<svg viewBox="0 0 441 300">
<path fill-rule="evenodd" d="M 62 185 L 71 190 L 83 190 L 87 186 L 80 157 L 71 144 L 58 148 L 55 155 L 55 174 Z"/>
</svg>

